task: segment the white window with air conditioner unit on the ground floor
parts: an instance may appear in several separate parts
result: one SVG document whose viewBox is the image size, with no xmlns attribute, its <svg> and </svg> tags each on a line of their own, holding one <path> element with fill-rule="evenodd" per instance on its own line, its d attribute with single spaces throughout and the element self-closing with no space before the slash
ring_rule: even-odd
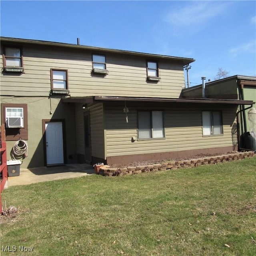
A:
<svg viewBox="0 0 256 256">
<path fill-rule="evenodd" d="M 5 108 L 6 127 L 18 128 L 24 127 L 23 108 Z"/>
</svg>

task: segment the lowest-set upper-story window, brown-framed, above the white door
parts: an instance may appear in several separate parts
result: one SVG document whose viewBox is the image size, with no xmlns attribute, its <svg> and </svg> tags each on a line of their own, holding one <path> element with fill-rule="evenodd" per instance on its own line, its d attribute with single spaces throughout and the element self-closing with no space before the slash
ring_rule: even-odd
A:
<svg viewBox="0 0 256 256">
<path fill-rule="evenodd" d="M 68 70 L 51 69 L 52 93 L 68 93 Z"/>
</svg>

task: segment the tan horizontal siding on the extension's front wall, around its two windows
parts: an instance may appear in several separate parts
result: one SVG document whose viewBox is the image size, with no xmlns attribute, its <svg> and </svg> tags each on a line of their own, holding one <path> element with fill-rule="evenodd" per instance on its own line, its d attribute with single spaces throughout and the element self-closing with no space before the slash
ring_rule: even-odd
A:
<svg viewBox="0 0 256 256">
<path fill-rule="evenodd" d="M 170 108 L 152 105 L 152 110 L 164 110 L 165 139 L 140 140 L 137 141 L 137 120 L 136 109 L 143 109 L 138 106 L 128 106 L 128 124 L 125 121 L 125 114 L 122 106 L 106 107 L 106 145 L 107 156 L 122 156 L 130 154 L 146 154 L 154 152 L 168 152 L 180 150 L 193 150 L 200 148 L 214 148 L 235 146 L 236 107 L 223 106 L 170 106 Z M 223 136 L 202 136 L 202 110 L 221 110 L 224 121 Z M 132 136 L 136 137 L 131 142 Z"/>
</svg>

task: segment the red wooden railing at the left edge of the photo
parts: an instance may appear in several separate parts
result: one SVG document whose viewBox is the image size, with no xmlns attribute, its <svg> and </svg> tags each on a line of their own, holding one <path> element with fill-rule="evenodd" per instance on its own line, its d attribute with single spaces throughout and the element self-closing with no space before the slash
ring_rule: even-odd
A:
<svg viewBox="0 0 256 256">
<path fill-rule="evenodd" d="M 0 182 L 0 212 L 2 212 L 2 198 L 1 194 L 4 189 L 4 185 L 8 180 L 7 173 L 7 154 L 6 154 L 6 141 L 5 141 L 5 128 L 4 124 L 1 125 L 1 141 L 0 141 L 0 172 L 1 172 L 1 182 Z"/>
</svg>

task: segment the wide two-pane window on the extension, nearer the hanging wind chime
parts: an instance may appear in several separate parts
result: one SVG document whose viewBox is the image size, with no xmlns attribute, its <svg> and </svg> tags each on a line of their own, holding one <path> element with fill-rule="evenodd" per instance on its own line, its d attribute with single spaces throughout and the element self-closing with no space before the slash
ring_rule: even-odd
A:
<svg viewBox="0 0 256 256">
<path fill-rule="evenodd" d="M 138 111 L 138 139 L 164 138 L 163 111 Z"/>
</svg>

